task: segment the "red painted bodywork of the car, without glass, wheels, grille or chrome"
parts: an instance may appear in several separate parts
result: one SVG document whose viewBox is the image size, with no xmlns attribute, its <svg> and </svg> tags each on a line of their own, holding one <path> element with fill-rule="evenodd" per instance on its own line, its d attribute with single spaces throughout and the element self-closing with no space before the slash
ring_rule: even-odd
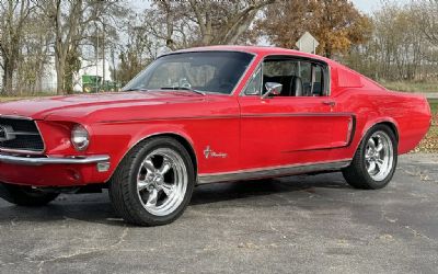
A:
<svg viewBox="0 0 438 274">
<path fill-rule="evenodd" d="M 46 156 L 110 155 L 111 169 L 97 172 L 94 164 L 0 163 L 0 181 L 55 186 L 106 182 L 132 146 L 162 134 L 184 138 L 196 155 L 198 173 L 205 174 L 351 159 L 362 136 L 377 123 L 390 123 L 396 128 L 399 153 L 405 153 L 415 148 L 430 125 L 430 110 L 423 96 L 388 91 L 320 56 L 272 47 L 215 46 L 188 50 L 241 50 L 253 53 L 255 58 L 231 95 L 129 92 L 2 103 L 1 115 L 37 121 Z M 240 96 L 256 66 L 269 55 L 327 62 L 331 95 Z M 335 105 L 324 104 L 327 100 Z M 84 125 L 92 136 L 85 152 L 76 151 L 70 144 L 74 123 Z M 227 158 L 206 159 L 203 151 L 207 146 L 215 152 L 227 153 Z"/>
</svg>

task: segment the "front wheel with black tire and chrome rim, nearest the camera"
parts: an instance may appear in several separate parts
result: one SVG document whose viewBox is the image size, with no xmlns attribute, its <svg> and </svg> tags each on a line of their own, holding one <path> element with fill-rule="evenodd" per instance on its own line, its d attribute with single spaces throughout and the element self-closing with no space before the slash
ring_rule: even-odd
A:
<svg viewBox="0 0 438 274">
<path fill-rule="evenodd" d="M 183 214 L 194 185 L 194 167 L 184 146 L 173 138 L 155 137 L 124 158 L 110 182 L 110 198 L 127 222 L 166 225 Z"/>
</svg>

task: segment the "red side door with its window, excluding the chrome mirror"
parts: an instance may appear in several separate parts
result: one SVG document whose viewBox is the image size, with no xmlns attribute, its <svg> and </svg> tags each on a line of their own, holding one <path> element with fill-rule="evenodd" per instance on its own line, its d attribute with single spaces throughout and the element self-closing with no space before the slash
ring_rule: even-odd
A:
<svg viewBox="0 0 438 274">
<path fill-rule="evenodd" d="M 239 96 L 243 169 L 311 164 L 336 159 L 348 145 L 354 115 L 330 95 L 327 65 L 290 56 L 265 58 Z M 266 82 L 283 85 L 266 93 Z"/>
</svg>

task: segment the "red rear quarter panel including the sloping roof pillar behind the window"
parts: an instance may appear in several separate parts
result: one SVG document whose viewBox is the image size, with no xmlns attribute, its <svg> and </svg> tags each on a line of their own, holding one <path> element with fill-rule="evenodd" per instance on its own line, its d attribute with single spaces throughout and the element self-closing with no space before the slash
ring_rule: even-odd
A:
<svg viewBox="0 0 438 274">
<path fill-rule="evenodd" d="M 356 115 L 351 145 L 335 153 L 353 158 L 362 137 L 379 123 L 390 123 L 396 129 L 400 155 L 414 149 L 429 129 L 430 107 L 424 96 L 390 91 L 360 73 L 332 60 L 332 96 L 339 111 Z M 341 157 L 341 156 L 339 156 Z"/>
</svg>

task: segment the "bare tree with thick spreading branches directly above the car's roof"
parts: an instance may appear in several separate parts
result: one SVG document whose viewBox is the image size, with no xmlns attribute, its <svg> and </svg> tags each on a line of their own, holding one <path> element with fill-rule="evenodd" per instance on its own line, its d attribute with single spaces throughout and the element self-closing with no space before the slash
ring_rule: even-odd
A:
<svg viewBox="0 0 438 274">
<path fill-rule="evenodd" d="M 157 1 L 146 11 L 149 33 L 170 49 L 235 44 L 256 13 L 275 0 Z"/>
</svg>

